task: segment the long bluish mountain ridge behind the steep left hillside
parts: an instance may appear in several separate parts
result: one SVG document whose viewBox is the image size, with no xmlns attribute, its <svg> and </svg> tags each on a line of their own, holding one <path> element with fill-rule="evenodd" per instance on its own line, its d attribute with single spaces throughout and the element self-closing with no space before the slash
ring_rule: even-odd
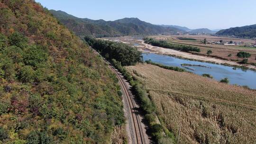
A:
<svg viewBox="0 0 256 144">
<path fill-rule="evenodd" d="M 64 11 L 50 12 L 66 27 L 78 36 L 93 35 L 96 37 L 128 36 L 142 34 L 176 34 L 181 31 L 174 27 L 156 26 L 138 18 L 123 18 L 115 21 L 76 18 Z"/>
</svg>

